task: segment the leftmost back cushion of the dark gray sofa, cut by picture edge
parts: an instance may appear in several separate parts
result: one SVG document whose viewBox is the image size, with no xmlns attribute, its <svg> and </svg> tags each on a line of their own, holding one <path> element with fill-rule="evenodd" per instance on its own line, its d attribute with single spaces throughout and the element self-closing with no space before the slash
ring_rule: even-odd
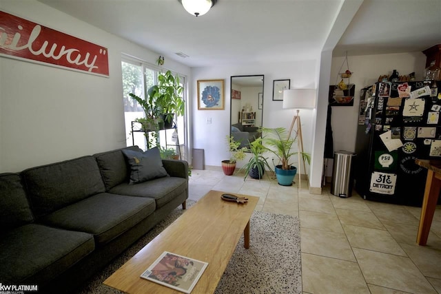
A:
<svg viewBox="0 0 441 294">
<path fill-rule="evenodd" d="M 0 233 L 33 220 L 19 174 L 0 174 Z"/>
</svg>

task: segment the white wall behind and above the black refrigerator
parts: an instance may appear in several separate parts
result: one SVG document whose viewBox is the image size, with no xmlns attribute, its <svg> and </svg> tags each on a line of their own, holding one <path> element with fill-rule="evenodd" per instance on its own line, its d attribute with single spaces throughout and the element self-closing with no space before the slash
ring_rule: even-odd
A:
<svg viewBox="0 0 441 294">
<path fill-rule="evenodd" d="M 344 60 L 344 57 L 332 59 L 330 85 L 341 81 L 341 78 L 338 78 L 338 70 Z M 350 81 L 356 85 L 356 92 L 353 106 L 332 107 L 334 151 L 355 151 L 360 90 L 376 83 L 378 76 L 392 74 L 393 70 L 397 70 L 400 75 L 415 72 L 417 81 L 422 80 L 426 56 L 422 52 L 348 56 L 348 62 L 349 70 L 353 72 Z M 345 66 L 343 72 L 346 70 Z"/>
</svg>

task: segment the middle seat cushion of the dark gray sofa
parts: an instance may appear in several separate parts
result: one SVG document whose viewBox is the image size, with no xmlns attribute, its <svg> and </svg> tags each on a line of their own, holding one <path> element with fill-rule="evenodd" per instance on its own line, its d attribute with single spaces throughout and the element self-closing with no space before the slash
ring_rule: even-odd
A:
<svg viewBox="0 0 441 294">
<path fill-rule="evenodd" d="M 154 200 L 99 193 L 41 218 L 51 227 L 92 233 L 105 244 L 141 222 L 155 210 Z"/>
</svg>

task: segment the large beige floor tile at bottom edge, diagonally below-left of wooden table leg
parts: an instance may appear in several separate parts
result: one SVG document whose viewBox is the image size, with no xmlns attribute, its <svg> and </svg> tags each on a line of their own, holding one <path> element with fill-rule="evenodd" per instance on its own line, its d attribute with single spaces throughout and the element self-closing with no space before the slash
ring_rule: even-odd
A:
<svg viewBox="0 0 441 294">
<path fill-rule="evenodd" d="M 353 248 L 368 284 L 411 293 L 436 293 L 409 258 Z"/>
</svg>

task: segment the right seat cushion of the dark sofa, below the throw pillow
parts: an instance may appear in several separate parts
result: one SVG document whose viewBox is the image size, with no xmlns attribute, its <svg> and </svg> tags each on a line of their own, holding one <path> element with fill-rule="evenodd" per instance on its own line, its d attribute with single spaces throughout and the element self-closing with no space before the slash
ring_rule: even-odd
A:
<svg viewBox="0 0 441 294">
<path fill-rule="evenodd" d="M 156 178 L 136 185 L 123 183 L 110 189 L 111 193 L 154 198 L 156 209 L 163 207 L 187 190 L 187 179 L 177 177 Z"/>
</svg>

